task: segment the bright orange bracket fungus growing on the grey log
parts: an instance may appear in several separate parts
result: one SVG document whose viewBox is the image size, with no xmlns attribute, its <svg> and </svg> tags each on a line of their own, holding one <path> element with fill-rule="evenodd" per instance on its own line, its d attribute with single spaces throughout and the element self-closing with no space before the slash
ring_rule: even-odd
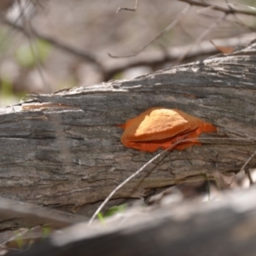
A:
<svg viewBox="0 0 256 256">
<path fill-rule="evenodd" d="M 198 137 L 202 132 L 217 130 L 214 125 L 195 116 L 169 108 L 149 108 L 119 127 L 125 129 L 121 137 L 121 143 L 125 147 L 147 152 L 154 152 L 158 148 L 170 148 L 172 144 L 184 138 L 195 139 L 179 143 L 175 149 L 183 150 L 194 144 L 200 145 Z"/>
</svg>

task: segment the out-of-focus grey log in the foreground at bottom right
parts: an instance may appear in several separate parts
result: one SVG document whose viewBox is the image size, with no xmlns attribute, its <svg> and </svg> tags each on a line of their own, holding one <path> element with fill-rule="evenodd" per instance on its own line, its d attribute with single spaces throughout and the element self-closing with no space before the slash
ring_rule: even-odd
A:
<svg viewBox="0 0 256 256">
<path fill-rule="evenodd" d="M 30 250 L 14 254 L 253 256 L 255 196 L 254 188 L 224 195 L 221 201 L 190 201 L 153 212 L 144 209 L 109 221 L 104 228 L 76 224 Z"/>
</svg>

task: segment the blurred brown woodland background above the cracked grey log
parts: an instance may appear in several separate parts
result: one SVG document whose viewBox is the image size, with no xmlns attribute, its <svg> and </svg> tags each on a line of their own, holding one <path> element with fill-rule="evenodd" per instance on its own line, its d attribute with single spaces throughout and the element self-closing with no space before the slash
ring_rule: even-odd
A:
<svg viewBox="0 0 256 256">
<path fill-rule="evenodd" d="M 189 4 L 178 0 L 141 0 L 136 11 L 116 13 L 136 1 L 1 0 L 0 107 L 30 92 L 131 79 L 255 38 L 256 1 L 218 1 L 252 15 L 224 15 L 212 8 L 216 1 L 197 1 L 210 7 L 184 10 Z M 164 32 L 172 22 L 176 26 Z"/>
</svg>

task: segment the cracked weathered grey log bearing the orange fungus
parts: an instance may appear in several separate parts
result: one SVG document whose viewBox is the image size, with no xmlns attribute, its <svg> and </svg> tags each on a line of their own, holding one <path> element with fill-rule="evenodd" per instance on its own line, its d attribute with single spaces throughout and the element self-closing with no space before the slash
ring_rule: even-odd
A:
<svg viewBox="0 0 256 256">
<path fill-rule="evenodd" d="M 125 148 L 117 126 L 153 107 L 204 119 L 218 127 L 218 139 L 173 151 L 115 199 L 148 195 L 216 171 L 239 171 L 256 147 L 255 63 L 253 44 L 136 79 L 37 96 L 42 108 L 31 102 L 0 109 L 0 195 L 90 215 L 90 204 L 104 200 L 157 154 Z"/>
</svg>

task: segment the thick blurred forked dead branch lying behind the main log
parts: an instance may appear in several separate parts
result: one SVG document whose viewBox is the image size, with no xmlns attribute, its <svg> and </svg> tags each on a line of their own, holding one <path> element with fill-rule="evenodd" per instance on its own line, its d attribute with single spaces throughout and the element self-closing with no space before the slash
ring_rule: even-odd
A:
<svg viewBox="0 0 256 256">
<path fill-rule="evenodd" d="M 9 21 L 8 21 L 9 22 Z M 13 23 L 9 23 L 10 26 L 15 27 L 20 32 L 25 32 L 22 26 L 17 26 Z M 172 47 L 169 49 L 163 50 L 150 50 L 145 53 L 141 53 L 139 56 L 135 56 L 134 58 L 126 58 L 119 59 L 118 61 L 113 60 L 111 58 L 105 58 L 102 56 L 93 56 L 88 55 L 86 52 L 81 51 L 79 49 L 75 49 L 63 42 L 59 42 L 55 38 L 50 38 L 41 32 L 32 31 L 33 36 L 37 38 L 41 38 L 49 44 L 53 44 L 55 47 L 69 53 L 75 55 L 78 58 L 83 59 L 84 61 L 90 61 L 98 67 L 99 72 L 102 73 L 102 78 L 104 81 L 108 81 L 112 79 L 116 73 L 122 72 L 130 67 L 138 67 L 138 66 L 148 66 L 157 69 L 163 66 L 167 62 L 176 61 L 181 55 L 183 55 L 183 62 L 196 61 L 199 58 L 206 58 L 210 55 L 218 54 L 219 51 L 215 47 L 213 47 L 208 40 L 201 42 L 200 45 L 188 45 L 182 47 Z M 250 43 L 255 38 L 255 33 L 244 34 L 240 37 L 236 38 L 224 38 L 224 39 L 215 39 L 214 43 L 221 46 L 229 46 L 239 48 L 245 46 Z M 186 55 L 184 55 L 186 53 Z M 102 61 L 97 61 L 101 59 Z"/>
</svg>

